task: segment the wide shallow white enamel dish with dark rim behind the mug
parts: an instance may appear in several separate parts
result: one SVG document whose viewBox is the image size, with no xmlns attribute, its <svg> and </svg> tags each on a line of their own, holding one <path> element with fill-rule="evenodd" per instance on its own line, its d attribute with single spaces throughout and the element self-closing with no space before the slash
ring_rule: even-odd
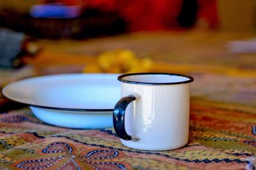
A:
<svg viewBox="0 0 256 170">
<path fill-rule="evenodd" d="M 6 85 L 3 95 L 28 104 L 47 124 L 77 129 L 113 127 L 120 98 L 118 74 L 57 74 Z"/>
</svg>

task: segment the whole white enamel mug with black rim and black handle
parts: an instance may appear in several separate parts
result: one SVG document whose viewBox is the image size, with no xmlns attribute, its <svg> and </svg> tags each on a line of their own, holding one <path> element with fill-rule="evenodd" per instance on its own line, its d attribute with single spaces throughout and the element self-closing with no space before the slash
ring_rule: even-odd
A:
<svg viewBox="0 0 256 170">
<path fill-rule="evenodd" d="M 123 145 L 139 150 L 174 150 L 188 143 L 189 84 L 193 77 L 169 73 L 118 76 L 122 99 L 113 124 Z"/>
</svg>

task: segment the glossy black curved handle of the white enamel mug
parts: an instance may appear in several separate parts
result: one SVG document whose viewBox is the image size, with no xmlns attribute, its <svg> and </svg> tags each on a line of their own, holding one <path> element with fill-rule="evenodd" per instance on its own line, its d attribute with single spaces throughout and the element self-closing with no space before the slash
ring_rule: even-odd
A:
<svg viewBox="0 0 256 170">
<path fill-rule="evenodd" d="M 127 106 L 129 105 L 129 103 L 131 103 L 132 101 L 135 101 L 135 100 L 136 100 L 136 97 L 132 96 L 132 95 L 122 97 L 122 99 L 120 99 L 120 101 L 118 101 L 118 103 L 116 103 L 114 111 L 113 111 L 113 124 L 114 124 L 114 128 L 116 131 L 116 135 L 119 138 L 124 139 L 126 141 L 138 140 L 138 138 L 127 134 L 127 132 L 125 131 L 125 127 L 124 127 L 125 110 L 126 110 Z"/>
</svg>

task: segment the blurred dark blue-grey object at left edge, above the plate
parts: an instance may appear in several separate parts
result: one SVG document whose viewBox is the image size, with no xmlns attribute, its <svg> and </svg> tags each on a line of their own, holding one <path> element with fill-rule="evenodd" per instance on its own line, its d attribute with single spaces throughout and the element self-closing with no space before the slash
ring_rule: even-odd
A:
<svg viewBox="0 0 256 170">
<path fill-rule="evenodd" d="M 17 56 L 25 41 L 25 34 L 8 29 L 0 29 L 0 67 L 16 67 Z"/>
</svg>

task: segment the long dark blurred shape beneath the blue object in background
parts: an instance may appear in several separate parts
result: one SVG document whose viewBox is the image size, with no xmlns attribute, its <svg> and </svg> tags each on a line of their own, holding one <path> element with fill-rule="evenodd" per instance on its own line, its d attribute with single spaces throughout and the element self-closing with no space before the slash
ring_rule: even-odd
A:
<svg viewBox="0 0 256 170">
<path fill-rule="evenodd" d="M 29 14 L 4 10 L 0 12 L 0 27 L 24 32 L 35 38 L 82 39 L 122 33 L 125 22 L 115 13 L 90 9 L 78 18 L 33 18 Z"/>
</svg>

